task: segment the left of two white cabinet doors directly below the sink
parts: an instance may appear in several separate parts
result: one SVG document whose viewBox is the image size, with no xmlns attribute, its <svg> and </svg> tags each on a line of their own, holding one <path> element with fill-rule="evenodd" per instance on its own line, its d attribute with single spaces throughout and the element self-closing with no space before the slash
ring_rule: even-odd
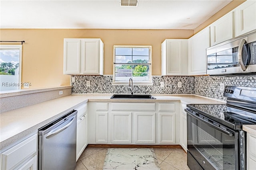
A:
<svg viewBox="0 0 256 170">
<path fill-rule="evenodd" d="M 132 143 L 132 112 L 112 112 L 111 121 L 111 143 Z"/>
</svg>

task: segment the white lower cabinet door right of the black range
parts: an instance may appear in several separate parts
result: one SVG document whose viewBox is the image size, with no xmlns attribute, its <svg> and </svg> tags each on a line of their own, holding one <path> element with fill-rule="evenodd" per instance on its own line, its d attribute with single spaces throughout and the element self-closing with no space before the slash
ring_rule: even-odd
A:
<svg viewBox="0 0 256 170">
<path fill-rule="evenodd" d="M 246 169 L 256 170 L 256 135 L 247 133 Z"/>
</svg>

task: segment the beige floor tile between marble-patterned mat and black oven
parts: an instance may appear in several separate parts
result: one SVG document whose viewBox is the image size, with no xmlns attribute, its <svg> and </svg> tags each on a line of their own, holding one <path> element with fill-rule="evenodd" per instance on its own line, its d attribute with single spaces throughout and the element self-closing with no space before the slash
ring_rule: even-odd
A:
<svg viewBox="0 0 256 170">
<path fill-rule="evenodd" d="M 187 166 L 187 154 L 182 149 L 174 149 L 164 162 L 179 170 L 190 170 Z"/>
</svg>

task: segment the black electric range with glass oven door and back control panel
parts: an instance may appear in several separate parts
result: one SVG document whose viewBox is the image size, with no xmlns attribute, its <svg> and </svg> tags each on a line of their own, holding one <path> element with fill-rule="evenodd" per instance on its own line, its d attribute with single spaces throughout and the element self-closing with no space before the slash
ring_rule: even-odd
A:
<svg viewBox="0 0 256 170">
<path fill-rule="evenodd" d="M 201 170 L 246 170 L 246 132 L 256 125 L 256 88 L 226 86 L 226 104 L 188 104 L 188 166 Z"/>
</svg>

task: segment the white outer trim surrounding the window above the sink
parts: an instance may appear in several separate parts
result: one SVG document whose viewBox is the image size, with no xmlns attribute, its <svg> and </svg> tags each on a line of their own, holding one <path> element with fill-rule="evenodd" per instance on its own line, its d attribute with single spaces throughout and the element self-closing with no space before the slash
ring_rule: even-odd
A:
<svg viewBox="0 0 256 170">
<path fill-rule="evenodd" d="M 116 55 L 115 55 L 115 47 L 131 47 L 131 48 L 134 48 L 134 47 L 138 47 L 138 48 L 143 48 L 143 47 L 149 47 L 149 81 L 144 81 L 144 82 L 138 82 L 138 81 L 133 81 L 133 85 L 136 85 L 136 86 L 153 86 L 153 82 L 152 82 L 152 46 L 151 45 L 114 45 L 114 48 L 113 48 L 113 79 L 112 79 L 112 85 L 114 86 L 125 86 L 125 85 L 128 85 L 129 82 L 128 81 L 118 81 L 116 82 L 115 81 L 115 67 L 114 67 L 114 61 L 115 61 L 115 58 L 116 58 Z"/>
</svg>

